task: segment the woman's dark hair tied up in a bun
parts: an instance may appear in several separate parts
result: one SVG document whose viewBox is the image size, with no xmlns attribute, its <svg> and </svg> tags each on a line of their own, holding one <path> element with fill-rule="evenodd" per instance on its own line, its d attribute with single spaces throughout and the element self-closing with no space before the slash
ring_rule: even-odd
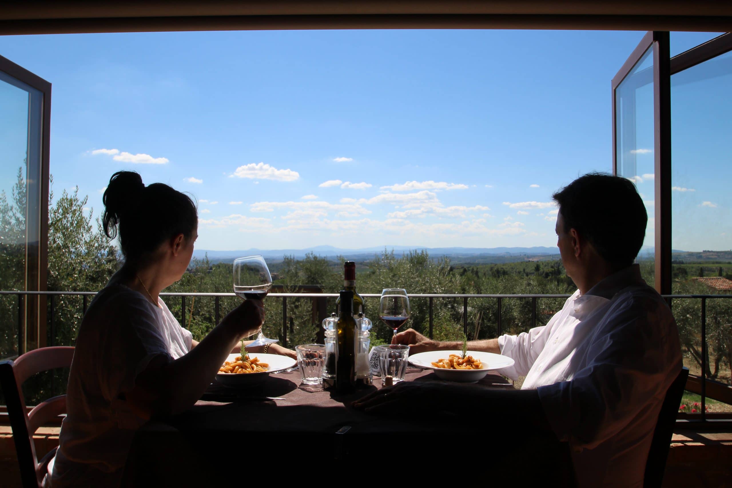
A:
<svg viewBox="0 0 732 488">
<path fill-rule="evenodd" d="M 173 236 L 190 239 L 198 225 L 198 211 L 188 195 L 163 183 L 146 187 L 135 171 L 114 173 L 102 202 L 104 232 L 111 239 L 119 235 L 128 261 L 145 258 Z"/>
</svg>

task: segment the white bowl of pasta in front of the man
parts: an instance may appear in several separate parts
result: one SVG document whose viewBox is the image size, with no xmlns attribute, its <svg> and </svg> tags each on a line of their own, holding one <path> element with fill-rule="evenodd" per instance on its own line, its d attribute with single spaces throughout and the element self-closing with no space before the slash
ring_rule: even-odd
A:
<svg viewBox="0 0 732 488">
<path fill-rule="evenodd" d="M 416 367 L 433 369 L 438 378 L 458 383 L 475 383 L 489 371 L 513 366 L 513 359 L 494 353 L 468 350 L 466 358 L 460 350 L 432 350 L 409 356 Z"/>
</svg>

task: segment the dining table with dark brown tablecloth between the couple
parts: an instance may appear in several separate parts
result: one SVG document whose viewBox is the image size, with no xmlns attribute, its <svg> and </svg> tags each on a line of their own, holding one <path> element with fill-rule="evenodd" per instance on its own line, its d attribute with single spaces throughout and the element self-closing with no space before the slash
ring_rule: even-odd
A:
<svg viewBox="0 0 732 488">
<path fill-rule="evenodd" d="M 414 367 L 404 381 L 442 382 L 432 369 Z M 389 466 L 406 454 L 429 459 L 438 453 L 445 461 L 466 462 L 483 458 L 493 443 L 479 427 L 485 424 L 476 422 L 480 405 L 465 405 L 466 416 L 444 415 L 429 404 L 394 415 L 352 406 L 381 383 L 375 376 L 372 385 L 342 394 L 301 384 L 298 370 L 269 374 L 250 387 L 212 383 L 190 410 L 149 421 L 136 432 L 123 485 L 138 486 L 142 477 L 151 486 L 225 486 L 248 470 L 285 474 L 360 462 Z M 497 372 L 473 387 L 514 389 Z"/>
</svg>

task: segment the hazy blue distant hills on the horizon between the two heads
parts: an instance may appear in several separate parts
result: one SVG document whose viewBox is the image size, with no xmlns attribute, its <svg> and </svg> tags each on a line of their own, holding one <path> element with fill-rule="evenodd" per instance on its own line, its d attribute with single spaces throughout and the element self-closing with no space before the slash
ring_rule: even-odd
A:
<svg viewBox="0 0 732 488">
<path fill-rule="evenodd" d="M 194 258 L 203 258 L 208 255 L 209 260 L 214 263 L 220 263 L 223 261 L 233 261 L 236 258 L 242 256 L 259 254 L 264 258 L 272 260 L 282 260 L 284 256 L 293 256 L 296 259 L 305 258 L 305 255 L 309 252 L 320 256 L 321 258 L 335 259 L 338 256 L 343 256 L 346 259 L 351 260 L 370 260 L 373 256 L 381 253 L 386 249 L 387 251 L 394 250 L 395 254 L 401 255 L 408 251 L 421 251 L 425 250 L 430 254 L 432 258 L 441 258 L 447 256 L 448 258 L 461 258 L 460 261 L 465 261 L 466 258 L 471 260 L 482 261 L 486 263 L 490 262 L 505 262 L 507 260 L 523 260 L 526 257 L 545 257 L 545 258 L 556 258 L 559 255 L 559 248 L 557 247 L 413 247 L 413 246 L 378 246 L 378 247 L 365 247 L 362 249 L 339 249 L 332 246 L 315 246 L 307 247 L 305 249 L 246 249 L 242 251 L 210 251 L 206 249 L 195 249 L 193 252 Z M 496 258 L 491 260 L 491 258 Z"/>
</svg>

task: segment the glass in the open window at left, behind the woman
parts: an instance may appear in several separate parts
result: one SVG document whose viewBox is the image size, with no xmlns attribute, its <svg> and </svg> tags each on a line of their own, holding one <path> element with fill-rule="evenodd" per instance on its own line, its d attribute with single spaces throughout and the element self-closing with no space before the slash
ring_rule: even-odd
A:
<svg viewBox="0 0 732 488">
<path fill-rule="evenodd" d="M 28 195 L 39 195 L 41 108 L 40 91 L 0 72 L 1 290 L 28 289 L 26 270 L 37 261 L 26 262 L 29 252 L 37 255 L 39 241 L 40 202 L 29 201 Z M 27 300 L 25 305 L 22 320 L 27 318 Z M 0 358 L 17 353 L 18 297 L 2 296 Z"/>
</svg>

